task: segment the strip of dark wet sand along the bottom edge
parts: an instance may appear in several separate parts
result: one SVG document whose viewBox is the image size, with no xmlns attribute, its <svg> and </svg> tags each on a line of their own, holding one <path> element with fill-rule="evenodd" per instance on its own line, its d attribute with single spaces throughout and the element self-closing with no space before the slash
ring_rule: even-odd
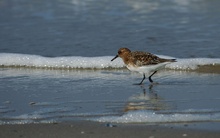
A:
<svg viewBox="0 0 220 138">
<path fill-rule="evenodd" d="M 107 127 L 103 123 L 76 121 L 72 123 L 58 124 L 22 124 L 22 125 L 1 125 L 1 138 L 171 138 L 171 137 L 192 137 L 192 138 L 219 138 L 218 131 L 202 131 L 193 129 L 180 129 L 175 127 L 162 127 L 158 125 L 126 125 L 117 124 L 114 127 Z"/>
</svg>

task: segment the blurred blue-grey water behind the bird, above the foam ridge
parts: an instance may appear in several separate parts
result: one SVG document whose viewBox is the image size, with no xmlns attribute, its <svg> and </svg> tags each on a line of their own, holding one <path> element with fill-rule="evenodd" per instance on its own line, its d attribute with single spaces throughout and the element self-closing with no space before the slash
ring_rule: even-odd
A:
<svg viewBox="0 0 220 138">
<path fill-rule="evenodd" d="M 218 0 L 1 0 L 1 52 L 219 57 Z"/>
</svg>

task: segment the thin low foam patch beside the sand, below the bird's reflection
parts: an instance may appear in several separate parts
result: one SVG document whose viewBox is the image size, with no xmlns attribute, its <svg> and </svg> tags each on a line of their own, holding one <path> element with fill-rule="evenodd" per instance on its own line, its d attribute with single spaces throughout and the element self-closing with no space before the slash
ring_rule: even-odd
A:
<svg viewBox="0 0 220 138">
<path fill-rule="evenodd" d="M 122 116 L 104 116 L 93 118 L 98 122 L 114 122 L 114 123 L 175 123 L 175 122 L 195 122 L 195 121 L 219 121 L 220 114 L 215 113 L 172 113 L 162 114 L 153 111 L 139 110 L 130 111 Z"/>
</svg>

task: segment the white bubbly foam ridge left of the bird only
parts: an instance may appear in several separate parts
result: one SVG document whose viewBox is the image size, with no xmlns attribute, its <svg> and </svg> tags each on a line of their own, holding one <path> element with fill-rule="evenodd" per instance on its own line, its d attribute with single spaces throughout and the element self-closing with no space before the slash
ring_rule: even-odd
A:
<svg viewBox="0 0 220 138">
<path fill-rule="evenodd" d="M 38 68 L 121 68 L 121 60 L 111 62 L 111 56 L 104 57 L 42 57 L 27 54 L 0 54 L 0 65 L 2 66 L 26 66 Z"/>
</svg>

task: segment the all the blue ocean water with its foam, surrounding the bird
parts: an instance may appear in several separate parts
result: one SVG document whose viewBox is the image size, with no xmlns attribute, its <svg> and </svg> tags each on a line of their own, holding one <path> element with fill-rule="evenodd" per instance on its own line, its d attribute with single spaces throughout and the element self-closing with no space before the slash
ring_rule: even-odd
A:
<svg viewBox="0 0 220 138">
<path fill-rule="evenodd" d="M 0 124 L 220 128 L 218 0 L 1 0 Z M 150 85 L 120 47 L 177 62 Z"/>
</svg>

